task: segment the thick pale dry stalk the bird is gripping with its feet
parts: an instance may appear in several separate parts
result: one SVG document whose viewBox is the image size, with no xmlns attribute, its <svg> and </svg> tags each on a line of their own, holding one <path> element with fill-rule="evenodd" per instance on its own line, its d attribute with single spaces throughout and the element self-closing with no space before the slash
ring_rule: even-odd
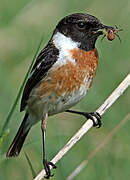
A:
<svg viewBox="0 0 130 180">
<path fill-rule="evenodd" d="M 130 85 L 130 73 L 120 83 L 120 85 L 112 92 L 112 94 L 105 100 L 105 102 L 97 109 L 97 112 L 102 116 L 107 109 L 123 94 L 123 92 Z M 95 119 L 96 120 L 96 119 Z M 67 142 L 67 144 L 57 153 L 57 155 L 51 160 L 56 164 L 91 128 L 93 127 L 92 120 L 86 121 L 78 132 Z M 52 168 L 52 167 L 50 167 Z M 43 169 L 34 180 L 41 180 L 45 176 L 45 170 Z"/>
</svg>

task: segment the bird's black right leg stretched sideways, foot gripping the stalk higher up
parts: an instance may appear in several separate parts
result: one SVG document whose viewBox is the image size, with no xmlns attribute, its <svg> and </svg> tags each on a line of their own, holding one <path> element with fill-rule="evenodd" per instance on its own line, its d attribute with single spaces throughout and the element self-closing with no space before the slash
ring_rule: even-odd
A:
<svg viewBox="0 0 130 180">
<path fill-rule="evenodd" d="M 93 121 L 93 126 L 97 126 L 98 128 L 100 128 L 102 125 L 101 116 L 98 112 L 89 112 L 88 113 L 88 112 L 80 112 L 80 111 L 73 111 L 73 110 L 66 110 L 66 112 L 83 115 L 87 119 L 91 119 Z M 95 122 L 93 117 L 95 117 L 97 119 L 97 123 Z"/>
</svg>

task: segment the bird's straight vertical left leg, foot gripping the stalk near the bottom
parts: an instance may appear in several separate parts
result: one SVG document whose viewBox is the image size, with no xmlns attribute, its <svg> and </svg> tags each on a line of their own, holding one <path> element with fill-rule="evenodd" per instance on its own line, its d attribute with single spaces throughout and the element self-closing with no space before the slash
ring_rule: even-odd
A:
<svg viewBox="0 0 130 180">
<path fill-rule="evenodd" d="M 46 157 L 45 136 L 46 136 L 47 117 L 48 117 L 48 115 L 46 114 L 42 118 L 41 129 L 42 129 L 42 138 L 43 138 L 43 165 L 44 165 L 45 172 L 46 172 L 45 178 L 49 179 L 51 176 L 53 176 L 53 174 L 51 174 L 50 166 L 52 166 L 52 168 L 56 168 L 56 165 L 53 164 L 52 162 L 48 162 L 47 157 Z"/>
</svg>

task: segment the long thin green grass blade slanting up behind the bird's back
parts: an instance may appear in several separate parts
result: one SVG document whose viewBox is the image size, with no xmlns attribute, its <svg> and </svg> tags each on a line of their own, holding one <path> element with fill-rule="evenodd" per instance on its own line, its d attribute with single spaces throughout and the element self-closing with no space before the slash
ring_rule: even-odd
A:
<svg viewBox="0 0 130 180">
<path fill-rule="evenodd" d="M 29 67 L 29 69 L 28 69 L 28 71 L 27 71 L 27 73 L 26 73 L 26 75 L 25 75 L 25 78 L 24 78 L 23 83 L 22 83 L 22 85 L 21 85 L 21 87 L 20 87 L 20 90 L 19 90 L 19 92 L 18 92 L 18 95 L 17 95 L 17 97 L 16 97 L 16 99 L 15 99 L 15 101 L 14 101 L 14 104 L 13 104 L 13 106 L 12 106 L 12 108 L 11 108 L 11 110 L 10 110 L 10 112 L 9 112 L 6 120 L 5 120 L 5 123 L 4 123 L 4 125 L 3 125 L 3 127 L 2 127 L 2 130 L 1 130 L 1 133 L 0 133 L 0 137 L 2 136 L 2 134 L 4 133 L 4 131 L 6 130 L 8 124 L 9 124 L 9 122 L 10 122 L 10 119 L 11 119 L 11 117 L 12 117 L 14 111 L 15 111 L 16 105 L 18 104 L 19 98 L 20 98 L 20 96 L 21 96 L 21 93 L 22 93 L 22 91 L 23 91 L 23 88 L 24 88 L 24 86 L 25 86 L 25 83 L 26 83 L 27 78 L 28 78 L 28 76 L 29 76 L 29 73 L 30 73 L 30 71 L 31 71 L 31 69 L 32 69 L 32 66 L 33 66 L 33 64 L 34 64 L 34 61 L 35 61 L 36 56 L 37 56 L 37 54 L 38 54 L 38 52 L 39 52 L 39 49 L 40 49 L 40 46 L 41 46 L 42 42 L 43 42 L 43 37 L 41 38 L 40 43 L 39 43 L 39 45 L 38 45 L 38 47 L 37 47 L 37 49 L 36 49 L 36 52 L 35 52 L 35 54 L 34 54 L 34 56 L 33 56 L 31 65 L 30 65 L 30 67 Z"/>
</svg>

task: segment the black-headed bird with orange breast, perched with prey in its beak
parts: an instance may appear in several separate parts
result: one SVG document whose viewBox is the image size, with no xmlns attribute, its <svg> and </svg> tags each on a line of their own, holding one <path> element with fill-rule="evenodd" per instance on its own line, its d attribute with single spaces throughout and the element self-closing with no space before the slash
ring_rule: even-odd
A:
<svg viewBox="0 0 130 180">
<path fill-rule="evenodd" d="M 47 161 L 45 153 L 48 116 L 66 111 L 81 114 L 92 119 L 94 126 L 101 126 L 101 117 L 97 112 L 69 109 L 87 94 L 93 83 L 99 59 L 95 43 L 104 32 L 109 40 L 113 40 L 118 29 L 103 25 L 99 19 L 89 14 L 71 14 L 58 23 L 48 44 L 36 58 L 25 85 L 20 111 L 26 113 L 8 149 L 7 157 L 19 155 L 29 130 L 42 120 L 43 164 L 46 178 L 49 178 L 49 165 L 53 168 L 56 166 Z M 98 124 L 93 116 L 97 118 Z"/>
</svg>

